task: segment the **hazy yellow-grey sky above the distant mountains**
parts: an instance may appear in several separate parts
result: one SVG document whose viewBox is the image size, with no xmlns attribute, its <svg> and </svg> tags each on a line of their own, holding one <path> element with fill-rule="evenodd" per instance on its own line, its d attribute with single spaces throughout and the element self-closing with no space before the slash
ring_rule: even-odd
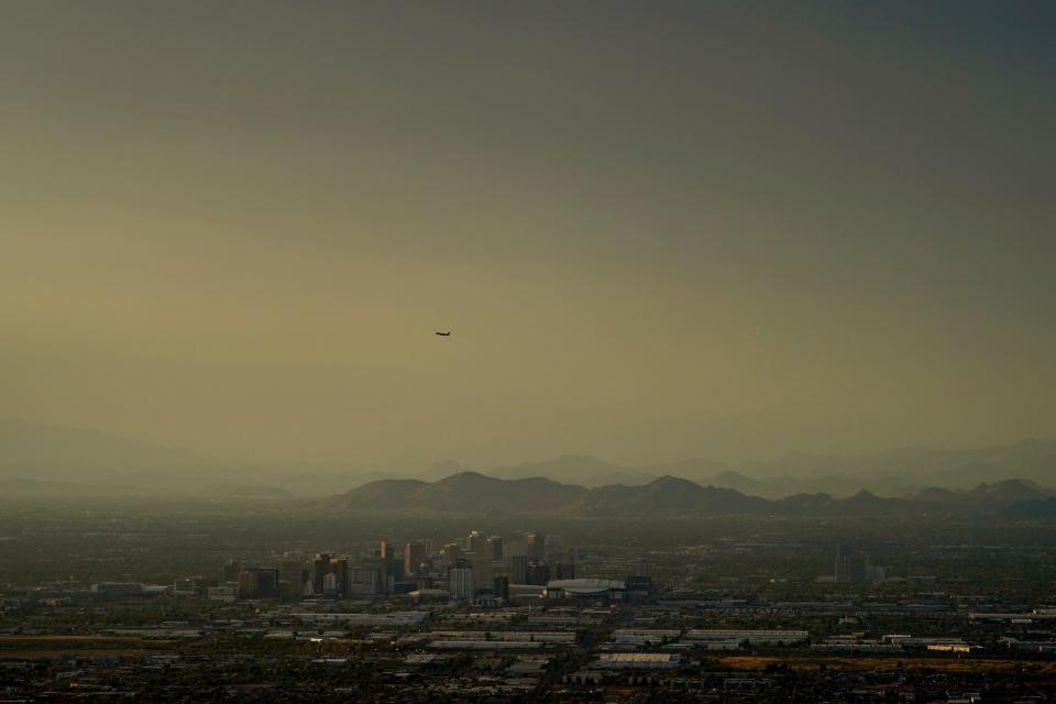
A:
<svg viewBox="0 0 1056 704">
<path fill-rule="evenodd" d="M 1054 37 L 1050 2 L 2 2 L 0 417 L 388 465 L 1053 436 Z"/>
</svg>

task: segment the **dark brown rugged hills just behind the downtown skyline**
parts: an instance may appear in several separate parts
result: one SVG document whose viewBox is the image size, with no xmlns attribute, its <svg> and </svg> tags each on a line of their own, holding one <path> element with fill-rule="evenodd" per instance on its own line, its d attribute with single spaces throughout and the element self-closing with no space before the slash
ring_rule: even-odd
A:
<svg viewBox="0 0 1056 704">
<path fill-rule="evenodd" d="M 585 488 L 543 477 L 501 480 L 461 472 L 438 482 L 380 480 L 326 499 L 329 508 L 408 514 L 550 514 L 579 518 L 693 518 L 732 515 L 905 516 L 921 509 L 960 515 L 998 515 L 1011 506 L 1053 496 L 1033 482 L 1009 480 L 969 492 L 926 490 L 902 498 L 860 491 L 845 499 L 796 494 L 780 501 L 748 496 L 661 476 L 640 486 Z M 1014 512 L 1008 515 L 1014 515 Z"/>
</svg>

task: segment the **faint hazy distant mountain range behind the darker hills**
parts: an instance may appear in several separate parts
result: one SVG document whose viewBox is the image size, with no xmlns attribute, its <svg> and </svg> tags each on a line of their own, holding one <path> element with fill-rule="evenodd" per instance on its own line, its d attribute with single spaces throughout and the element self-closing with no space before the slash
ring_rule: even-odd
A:
<svg viewBox="0 0 1056 704">
<path fill-rule="evenodd" d="M 59 484 L 76 483 L 92 495 L 217 496 L 234 492 L 240 496 L 274 498 L 289 494 L 319 498 L 376 480 L 405 480 L 414 485 L 415 481 L 437 481 L 469 471 L 453 460 L 425 470 L 351 468 L 337 462 L 265 465 L 92 430 L 0 420 L 0 481 L 21 481 L 7 485 L 11 495 L 61 495 L 65 490 Z M 941 503 L 957 503 L 970 502 L 961 494 L 980 483 L 1021 479 L 1043 486 L 1056 484 L 1056 440 L 1023 440 L 965 450 L 895 449 L 846 457 L 793 453 L 736 464 L 697 458 L 666 464 L 620 465 L 592 455 L 566 454 L 542 462 L 485 469 L 480 474 L 499 480 L 548 477 L 584 490 L 647 486 L 670 476 L 768 499 L 796 495 L 844 499 L 861 490 L 891 498 L 942 487 L 957 496 L 944 496 Z M 619 490 L 606 488 L 606 493 L 616 496 Z M 938 497 L 938 490 L 933 495 Z M 821 506 L 825 498 L 800 496 L 795 501 Z"/>
</svg>

